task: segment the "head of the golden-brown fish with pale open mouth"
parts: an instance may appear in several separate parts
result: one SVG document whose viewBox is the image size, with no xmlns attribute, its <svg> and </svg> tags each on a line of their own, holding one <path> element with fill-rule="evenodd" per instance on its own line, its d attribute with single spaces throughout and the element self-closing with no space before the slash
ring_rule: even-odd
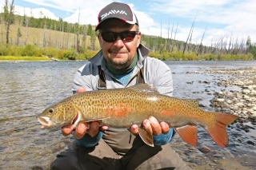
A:
<svg viewBox="0 0 256 170">
<path fill-rule="evenodd" d="M 77 117 L 78 112 L 72 102 L 60 102 L 45 109 L 37 118 L 41 128 L 45 129 L 73 124 Z"/>
</svg>

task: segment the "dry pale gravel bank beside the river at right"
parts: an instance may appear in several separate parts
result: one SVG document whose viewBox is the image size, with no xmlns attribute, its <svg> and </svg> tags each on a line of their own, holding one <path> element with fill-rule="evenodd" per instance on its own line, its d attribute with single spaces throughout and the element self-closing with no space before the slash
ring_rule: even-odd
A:
<svg viewBox="0 0 256 170">
<path fill-rule="evenodd" d="M 214 93 L 211 106 L 220 111 L 232 113 L 240 121 L 251 121 L 256 125 L 256 67 L 241 69 L 208 70 L 209 73 L 229 74 L 231 77 L 221 80 L 218 86 L 238 86 L 241 90 L 222 89 Z"/>
</svg>

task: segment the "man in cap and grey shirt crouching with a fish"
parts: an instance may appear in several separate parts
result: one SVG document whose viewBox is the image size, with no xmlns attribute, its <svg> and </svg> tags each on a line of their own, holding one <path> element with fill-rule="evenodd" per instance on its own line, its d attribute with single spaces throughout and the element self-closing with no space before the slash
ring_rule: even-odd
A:
<svg viewBox="0 0 256 170">
<path fill-rule="evenodd" d="M 159 93 L 172 95 L 170 69 L 162 61 L 147 57 L 149 49 L 140 44 L 138 19 L 128 5 L 113 2 L 103 8 L 95 30 L 102 50 L 78 69 L 74 93 L 148 83 Z M 77 145 L 58 155 L 51 169 L 189 169 L 168 145 L 173 128 L 155 117 L 143 121 L 142 126 L 153 133 L 154 147 L 138 136 L 138 125 L 132 125 L 129 131 L 99 127 L 98 121 L 82 122 L 75 129 L 67 125 L 62 134 L 72 132 Z"/>
</svg>

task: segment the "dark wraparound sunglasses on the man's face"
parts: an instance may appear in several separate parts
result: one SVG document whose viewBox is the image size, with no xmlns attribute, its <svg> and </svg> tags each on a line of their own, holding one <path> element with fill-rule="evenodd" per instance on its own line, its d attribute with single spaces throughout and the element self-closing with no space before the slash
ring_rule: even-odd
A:
<svg viewBox="0 0 256 170">
<path fill-rule="evenodd" d="M 122 39 L 122 42 L 131 42 L 138 34 L 138 31 L 123 31 L 121 33 L 103 32 L 99 34 L 105 42 L 115 42 L 118 37 Z"/>
</svg>

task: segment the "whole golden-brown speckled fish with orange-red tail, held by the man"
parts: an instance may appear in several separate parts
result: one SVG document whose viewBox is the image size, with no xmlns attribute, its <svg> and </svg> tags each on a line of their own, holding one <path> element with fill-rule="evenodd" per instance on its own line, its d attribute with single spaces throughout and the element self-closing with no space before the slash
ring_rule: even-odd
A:
<svg viewBox="0 0 256 170">
<path fill-rule="evenodd" d="M 51 105 L 37 118 L 42 129 L 71 124 L 76 128 L 79 122 L 91 121 L 114 128 L 129 128 L 136 124 L 142 140 L 154 146 L 153 134 L 141 127 L 142 121 L 150 116 L 159 122 L 165 121 L 192 146 L 198 144 L 199 125 L 221 147 L 226 147 L 229 142 L 226 126 L 238 118 L 230 113 L 204 111 L 196 100 L 160 94 L 150 84 L 77 93 Z"/>
</svg>

